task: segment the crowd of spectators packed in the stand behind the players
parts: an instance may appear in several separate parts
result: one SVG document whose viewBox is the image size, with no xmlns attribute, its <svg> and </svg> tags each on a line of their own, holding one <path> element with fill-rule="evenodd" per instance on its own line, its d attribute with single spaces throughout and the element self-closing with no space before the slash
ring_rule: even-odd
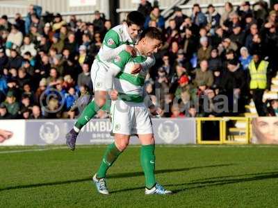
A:
<svg viewBox="0 0 278 208">
<path fill-rule="evenodd" d="M 278 3 L 269 10 L 265 1 L 253 6 L 245 1 L 237 8 L 227 2 L 222 14 L 213 5 L 203 11 L 195 4 L 192 15 L 175 8 L 167 22 L 148 1 L 138 10 L 146 17 L 145 28 L 165 34 L 145 83 L 163 116 L 238 116 L 250 98 L 259 115 L 278 114 L 278 101 L 262 101 L 277 73 Z M 42 15 L 33 5 L 25 19 L 16 14 L 13 24 L 1 17 L 0 119 L 73 119 L 79 113 L 70 106 L 81 93 L 92 92 L 90 67 L 113 27 L 98 11 L 93 19 L 72 15 L 65 21 L 58 13 Z M 252 60 L 256 67 L 269 62 L 263 89 L 250 89 Z"/>
</svg>

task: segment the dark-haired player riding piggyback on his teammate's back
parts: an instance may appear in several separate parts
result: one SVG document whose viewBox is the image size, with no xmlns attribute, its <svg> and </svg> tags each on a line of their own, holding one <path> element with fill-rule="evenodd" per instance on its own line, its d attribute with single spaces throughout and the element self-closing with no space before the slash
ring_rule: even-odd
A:
<svg viewBox="0 0 278 208">
<path fill-rule="evenodd" d="M 109 92 L 111 92 L 113 77 L 119 71 L 111 69 L 108 65 L 123 50 L 127 51 L 130 55 L 136 55 L 133 46 L 138 41 L 138 35 L 142 31 L 144 23 L 145 17 L 140 12 L 130 12 L 126 17 L 126 23 L 115 26 L 106 33 L 104 42 L 91 69 L 95 98 L 85 107 L 81 116 L 79 116 L 79 119 L 74 124 L 74 128 L 66 135 L 66 143 L 71 150 L 75 148 L 76 138 L 81 128 L 97 114 L 98 110 L 110 109 L 110 103 L 106 102 L 106 98 Z M 154 58 L 149 57 L 145 62 L 133 65 L 133 73 L 149 68 L 154 62 Z"/>
</svg>

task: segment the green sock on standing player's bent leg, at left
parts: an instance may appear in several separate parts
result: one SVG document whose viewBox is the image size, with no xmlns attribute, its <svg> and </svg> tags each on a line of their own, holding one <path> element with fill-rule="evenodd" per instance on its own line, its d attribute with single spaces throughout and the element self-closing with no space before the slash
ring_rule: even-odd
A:
<svg viewBox="0 0 278 208">
<path fill-rule="evenodd" d="M 122 152 L 117 149 L 114 142 L 107 147 L 106 152 L 104 153 L 104 157 L 101 160 L 99 170 L 97 171 L 98 178 L 106 177 L 108 168 L 113 165 L 113 163 L 121 153 Z"/>
</svg>

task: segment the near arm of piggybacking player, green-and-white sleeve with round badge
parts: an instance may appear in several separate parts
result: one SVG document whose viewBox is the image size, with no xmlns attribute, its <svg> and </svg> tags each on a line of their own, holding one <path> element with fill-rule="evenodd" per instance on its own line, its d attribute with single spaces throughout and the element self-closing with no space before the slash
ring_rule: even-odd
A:
<svg viewBox="0 0 278 208">
<path fill-rule="evenodd" d="M 101 58 L 105 61 L 112 60 L 121 51 L 129 51 L 129 53 L 134 53 L 133 47 L 122 44 L 120 45 L 120 36 L 116 31 L 110 30 L 106 33 L 104 37 L 104 42 L 102 44 Z"/>
</svg>

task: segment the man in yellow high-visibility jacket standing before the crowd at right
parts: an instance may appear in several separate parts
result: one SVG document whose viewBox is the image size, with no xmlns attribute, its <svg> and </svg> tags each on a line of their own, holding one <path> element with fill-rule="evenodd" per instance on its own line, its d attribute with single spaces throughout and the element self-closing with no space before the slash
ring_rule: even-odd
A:
<svg viewBox="0 0 278 208">
<path fill-rule="evenodd" d="M 259 116 L 265 116 L 263 93 L 268 87 L 268 64 L 267 61 L 261 60 L 261 56 L 258 53 L 254 53 L 253 59 L 248 66 L 250 93 Z"/>
</svg>

